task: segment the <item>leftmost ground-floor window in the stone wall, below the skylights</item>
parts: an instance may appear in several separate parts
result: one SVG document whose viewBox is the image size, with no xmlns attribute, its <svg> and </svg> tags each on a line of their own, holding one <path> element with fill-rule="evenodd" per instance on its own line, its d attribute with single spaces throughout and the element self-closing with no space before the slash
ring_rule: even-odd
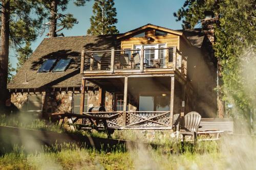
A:
<svg viewBox="0 0 256 170">
<path fill-rule="evenodd" d="M 42 111 L 42 94 L 29 94 L 27 101 L 27 111 L 41 112 Z"/>
</svg>

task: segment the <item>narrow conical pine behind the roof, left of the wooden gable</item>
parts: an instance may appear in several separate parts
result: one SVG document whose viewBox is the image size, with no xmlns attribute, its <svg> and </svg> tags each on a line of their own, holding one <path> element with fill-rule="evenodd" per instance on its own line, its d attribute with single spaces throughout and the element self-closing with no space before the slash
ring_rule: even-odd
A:
<svg viewBox="0 0 256 170">
<path fill-rule="evenodd" d="M 114 0 L 95 0 L 93 5 L 93 16 L 90 18 L 91 27 L 87 30 L 89 35 L 117 34 L 115 18 L 116 8 Z"/>
</svg>

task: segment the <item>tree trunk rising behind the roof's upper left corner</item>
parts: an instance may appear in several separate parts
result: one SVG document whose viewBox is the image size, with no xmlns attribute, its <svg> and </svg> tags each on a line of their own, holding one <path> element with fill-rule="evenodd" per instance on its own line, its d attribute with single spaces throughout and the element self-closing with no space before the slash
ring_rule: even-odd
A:
<svg viewBox="0 0 256 170">
<path fill-rule="evenodd" d="M 50 18 L 50 28 L 49 28 L 49 37 L 57 37 L 57 2 L 52 1 L 51 3 L 51 18 Z"/>
</svg>

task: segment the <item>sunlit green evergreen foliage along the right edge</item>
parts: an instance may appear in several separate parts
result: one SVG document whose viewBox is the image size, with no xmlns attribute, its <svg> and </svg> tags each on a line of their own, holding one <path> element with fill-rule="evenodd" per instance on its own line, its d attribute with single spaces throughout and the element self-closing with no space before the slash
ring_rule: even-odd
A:
<svg viewBox="0 0 256 170">
<path fill-rule="evenodd" d="M 256 103 L 255 7 L 253 0 L 187 0 L 174 13 L 183 28 L 193 28 L 205 17 L 204 11 L 214 12 L 218 21 L 214 50 L 222 65 L 223 99 L 243 113 Z"/>
</svg>

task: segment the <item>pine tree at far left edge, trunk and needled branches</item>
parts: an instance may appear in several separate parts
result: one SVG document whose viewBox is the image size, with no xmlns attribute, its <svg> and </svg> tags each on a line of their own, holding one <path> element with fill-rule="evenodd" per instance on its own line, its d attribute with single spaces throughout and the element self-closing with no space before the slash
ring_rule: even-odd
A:
<svg viewBox="0 0 256 170">
<path fill-rule="evenodd" d="M 36 1 L 2 0 L 1 8 L 1 49 L 0 49 L 0 107 L 7 98 L 9 47 L 19 49 L 26 42 L 35 40 L 41 18 L 30 17 Z"/>
</svg>

